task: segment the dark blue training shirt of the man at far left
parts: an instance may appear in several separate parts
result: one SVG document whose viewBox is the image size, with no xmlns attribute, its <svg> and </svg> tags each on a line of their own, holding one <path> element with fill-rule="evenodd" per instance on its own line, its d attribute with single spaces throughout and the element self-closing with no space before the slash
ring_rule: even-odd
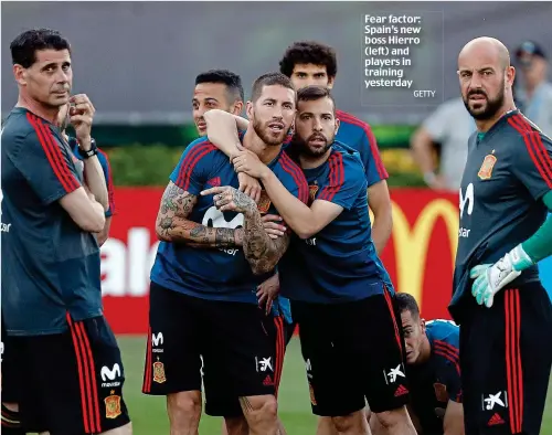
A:
<svg viewBox="0 0 552 435">
<path fill-rule="evenodd" d="M 59 200 L 83 173 L 57 127 L 15 107 L 2 129 L 2 317 L 10 336 L 61 333 L 102 315 L 100 257 Z"/>
</svg>

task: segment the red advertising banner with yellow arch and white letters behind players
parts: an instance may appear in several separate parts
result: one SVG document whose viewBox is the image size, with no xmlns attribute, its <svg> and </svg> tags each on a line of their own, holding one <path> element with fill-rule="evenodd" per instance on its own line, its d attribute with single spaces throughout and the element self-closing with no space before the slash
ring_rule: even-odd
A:
<svg viewBox="0 0 552 435">
<path fill-rule="evenodd" d="M 119 188 L 117 214 L 102 247 L 105 314 L 115 333 L 146 333 L 155 222 L 163 190 Z M 458 237 L 458 199 L 424 189 L 394 189 L 393 234 L 382 254 L 395 288 L 412 294 L 425 318 L 449 318 Z"/>
</svg>

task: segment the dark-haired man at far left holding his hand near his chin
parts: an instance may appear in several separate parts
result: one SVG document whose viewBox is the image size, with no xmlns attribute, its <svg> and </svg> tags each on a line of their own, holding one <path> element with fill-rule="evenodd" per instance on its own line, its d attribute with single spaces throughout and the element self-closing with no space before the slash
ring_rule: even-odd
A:
<svg viewBox="0 0 552 435">
<path fill-rule="evenodd" d="M 2 231 L 1 286 L 22 429 L 131 434 L 93 235 L 103 230 L 107 209 L 91 140 L 94 106 L 85 95 L 70 97 L 71 46 L 59 32 L 25 31 L 10 49 L 19 99 L 2 129 L 2 223 L 9 231 Z M 67 103 L 81 168 L 56 126 Z"/>
</svg>

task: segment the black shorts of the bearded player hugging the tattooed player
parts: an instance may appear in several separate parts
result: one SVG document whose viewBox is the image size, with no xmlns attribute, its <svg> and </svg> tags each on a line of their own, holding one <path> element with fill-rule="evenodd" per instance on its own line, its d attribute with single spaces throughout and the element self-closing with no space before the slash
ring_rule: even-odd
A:
<svg viewBox="0 0 552 435">
<path fill-rule="evenodd" d="M 296 301 L 291 309 L 314 414 L 348 415 L 365 400 L 375 413 L 408 402 L 401 317 L 390 291 L 346 304 Z"/>
</svg>

